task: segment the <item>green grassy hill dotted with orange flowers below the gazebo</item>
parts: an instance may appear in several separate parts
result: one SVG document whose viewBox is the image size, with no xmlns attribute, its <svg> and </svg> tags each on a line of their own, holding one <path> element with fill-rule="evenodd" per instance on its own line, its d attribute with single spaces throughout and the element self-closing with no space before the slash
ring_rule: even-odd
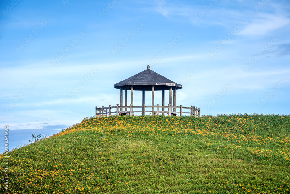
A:
<svg viewBox="0 0 290 194">
<path fill-rule="evenodd" d="M 9 193 L 290 193 L 290 116 L 112 116 L 0 155 Z"/>
</svg>

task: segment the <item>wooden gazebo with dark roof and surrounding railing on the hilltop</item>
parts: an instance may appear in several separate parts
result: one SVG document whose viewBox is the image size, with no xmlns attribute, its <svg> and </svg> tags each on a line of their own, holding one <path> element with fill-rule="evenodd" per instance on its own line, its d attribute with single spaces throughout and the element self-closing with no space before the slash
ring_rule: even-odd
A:
<svg viewBox="0 0 290 194">
<path fill-rule="evenodd" d="M 117 115 L 133 115 L 133 113 L 142 112 L 142 115 L 145 115 L 146 112 L 151 112 L 152 115 L 159 113 L 164 113 L 168 115 L 176 115 L 177 113 L 182 115 L 182 113 L 188 113 L 191 116 L 200 116 L 200 109 L 197 109 L 193 106 L 191 107 L 182 107 L 176 106 L 176 90 L 182 89 L 182 85 L 175 83 L 166 77 L 152 71 L 150 69 L 150 66 L 147 66 L 147 69 L 132 76 L 128 79 L 125 79 L 123 81 L 120 81 L 119 83 L 116 83 L 114 85 L 114 88 L 120 90 L 120 106 L 117 104 L 117 106 L 109 106 L 102 108 L 96 107 L 96 116 L 97 115 L 111 115 L 112 113 L 116 113 Z M 123 90 L 125 90 L 125 104 L 123 106 Z M 128 90 L 131 91 L 131 104 L 130 106 L 127 106 L 128 102 Z M 142 106 L 133 106 L 133 93 L 134 90 L 142 91 Z M 169 104 L 168 106 L 165 106 L 165 90 L 169 90 Z M 173 90 L 173 106 L 172 106 L 172 90 Z M 151 91 L 152 92 L 152 105 L 151 106 L 145 106 L 145 91 Z M 162 91 L 162 106 L 155 106 L 154 104 L 154 92 L 155 91 Z M 116 111 L 112 112 L 112 109 L 116 108 Z M 123 108 L 125 111 L 123 111 Z M 127 111 L 127 108 L 130 108 L 130 111 Z M 133 111 L 133 108 L 142 108 L 142 111 Z M 151 111 L 145 111 L 145 108 L 152 108 Z M 155 110 L 155 108 L 157 108 Z M 159 108 L 162 108 L 162 111 L 159 110 Z M 165 108 L 168 108 L 168 111 L 165 111 Z M 172 111 L 173 108 L 173 111 Z M 176 108 L 180 109 L 180 111 L 176 112 Z M 184 109 L 191 109 L 190 112 L 182 112 L 182 108 Z M 119 110 L 120 109 L 120 110 Z M 99 111 L 99 113 L 98 113 Z"/>
</svg>

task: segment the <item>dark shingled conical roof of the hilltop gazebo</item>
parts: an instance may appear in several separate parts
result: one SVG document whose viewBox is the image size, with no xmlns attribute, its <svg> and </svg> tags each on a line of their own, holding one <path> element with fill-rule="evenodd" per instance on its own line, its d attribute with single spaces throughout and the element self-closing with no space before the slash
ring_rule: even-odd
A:
<svg viewBox="0 0 290 194">
<path fill-rule="evenodd" d="M 182 85 L 177 84 L 170 79 L 167 79 L 166 77 L 163 77 L 162 75 L 152 71 L 149 69 L 149 66 L 147 66 L 145 71 L 142 71 L 132 77 L 129 77 L 128 79 L 116 83 L 114 88 L 120 89 L 120 87 L 123 86 L 123 89 L 127 88 L 129 90 L 132 85 L 134 86 L 134 90 L 146 91 L 151 91 L 152 85 L 155 86 L 154 90 L 170 90 L 171 86 L 177 90 L 182 88 Z"/>
</svg>

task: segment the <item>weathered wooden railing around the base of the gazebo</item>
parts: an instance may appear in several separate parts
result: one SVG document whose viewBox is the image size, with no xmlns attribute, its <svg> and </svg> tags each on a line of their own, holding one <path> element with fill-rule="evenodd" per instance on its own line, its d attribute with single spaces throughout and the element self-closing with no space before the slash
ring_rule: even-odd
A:
<svg viewBox="0 0 290 194">
<path fill-rule="evenodd" d="M 134 108 L 135 108 L 135 111 L 134 111 Z M 139 108 L 139 109 L 142 108 L 142 111 L 136 111 L 136 108 Z M 151 110 L 146 111 L 146 108 L 147 109 L 151 108 Z M 162 110 L 160 110 L 160 108 L 162 108 Z M 176 109 L 178 110 L 176 111 Z M 184 109 L 189 110 L 189 112 L 183 112 Z M 102 106 L 102 108 L 98 108 L 96 106 L 96 117 L 97 116 L 111 116 L 114 113 L 116 113 L 116 115 L 129 114 L 130 116 L 134 115 L 134 113 L 142 113 L 142 115 L 146 115 L 146 113 L 152 113 L 152 115 L 167 114 L 170 116 L 175 116 L 177 114 L 179 114 L 180 116 L 182 116 L 182 114 L 190 114 L 190 116 L 193 116 L 193 117 L 200 117 L 200 108 L 197 108 L 195 106 L 186 107 L 182 105 L 171 106 L 170 104 L 168 104 L 168 106 L 160 106 L 159 104 L 154 105 L 154 106 L 152 105 L 145 106 L 145 104 L 143 104 L 143 106 L 132 106 L 132 104 L 130 104 L 130 106 L 119 106 L 117 104 L 117 106 L 109 105 L 109 107 Z"/>
</svg>

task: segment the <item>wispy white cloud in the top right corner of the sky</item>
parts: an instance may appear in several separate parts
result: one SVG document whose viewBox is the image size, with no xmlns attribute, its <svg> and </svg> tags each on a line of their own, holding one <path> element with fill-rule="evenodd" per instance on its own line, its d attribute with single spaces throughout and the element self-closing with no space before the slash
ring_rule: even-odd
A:
<svg viewBox="0 0 290 194">
<path fill-rule="evenodd" d="M 221 7 L 215 4 L 214 1 L 211 2 L 211 7 L 208 4 L 205 3 L 204 6 L 191 6 L 167 3 L 162 8 L 156 6 L 155 11 L 165 17 L 185 17 L 193 25 L 220 25 L 228 28 L 233 24 L 242 24 L 243 29 L 238 33 L 239 35 L 265 35 L 290 24 L 289 14 L 284 13 L 283 8 L 279 4 L 269 3 L 268 6 L 275 8 L 274 12 L 271 13 L 263 12 L 263 10 L 257 13 L 255 9 L 239 10 L 236 9 L 237 5 Z M 180 21 L 184 22 L 184 19 Z"/>
</svg>

